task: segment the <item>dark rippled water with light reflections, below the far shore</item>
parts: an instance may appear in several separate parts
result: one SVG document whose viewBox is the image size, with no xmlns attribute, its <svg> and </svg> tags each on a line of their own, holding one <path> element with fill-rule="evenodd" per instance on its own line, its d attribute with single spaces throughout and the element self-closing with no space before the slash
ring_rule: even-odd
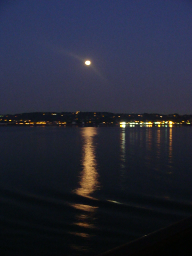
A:
<svg viewBox="0 0 192 256">
<path fill-rule="evenodd" d="M 192 214 L 192 127 L 1 127 L 1 256 L 96 255 Z"/>
</svg>

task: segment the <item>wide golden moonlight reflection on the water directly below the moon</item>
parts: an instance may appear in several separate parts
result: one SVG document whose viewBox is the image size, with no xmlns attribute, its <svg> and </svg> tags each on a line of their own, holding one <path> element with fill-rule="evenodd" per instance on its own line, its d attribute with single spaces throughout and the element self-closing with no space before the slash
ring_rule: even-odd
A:
<svg viewBox="0 0 192 256">
<path fill-rule="evenodd" d="M 86 198 L 94 199 L 92 193 L 96 191 L 100 184 L 98 182 L 98 172 L 97 172 L 97 162 L 95 157 L 96 146 L 94 144 L 94 136 L 97 134 L 98 128 L 82 128 L 81 135 L 84 140 L 82 147 L 82 167 L 83 170 L 80 174 L 79 188 L 74 190 L 74 192 L 79 196 L 84 196 Z M 95 213 L 97 206 L 92 206 L 88 204 L 70 204 L 75 209 L 80 210 L 76 214 L 76 222 L 73 224 L 83 228 L 85 232 L 73 232 L 74 235 L 88 238 L 92 236 L 90 232 L 86 232 L 86 229 L 95 229 Z M 74 246 L 73 246 L 74 248 Z"/>
</svg>

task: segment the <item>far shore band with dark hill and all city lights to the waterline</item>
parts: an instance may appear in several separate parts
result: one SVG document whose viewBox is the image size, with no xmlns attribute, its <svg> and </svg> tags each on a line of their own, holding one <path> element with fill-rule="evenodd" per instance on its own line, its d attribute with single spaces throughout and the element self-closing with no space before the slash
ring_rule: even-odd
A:
<svg viewBox="0 0 192 256">
<path fill-rule="evenodd" d="M 110 112 L 32 112 L 1 114 L 0 126 L 190 126 L 192 115 Z"/>
</svg>

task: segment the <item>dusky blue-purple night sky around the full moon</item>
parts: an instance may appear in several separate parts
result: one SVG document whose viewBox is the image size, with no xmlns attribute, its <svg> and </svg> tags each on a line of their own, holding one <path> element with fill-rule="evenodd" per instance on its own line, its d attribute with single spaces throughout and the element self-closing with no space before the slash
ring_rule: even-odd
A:
<svg viewBox="0 0 192 256">
<path fill-rule="evenodd" d="M 191 1 L 1 1 L 0 56 L 0 114 L 192 114 Z"/>
</svg>

